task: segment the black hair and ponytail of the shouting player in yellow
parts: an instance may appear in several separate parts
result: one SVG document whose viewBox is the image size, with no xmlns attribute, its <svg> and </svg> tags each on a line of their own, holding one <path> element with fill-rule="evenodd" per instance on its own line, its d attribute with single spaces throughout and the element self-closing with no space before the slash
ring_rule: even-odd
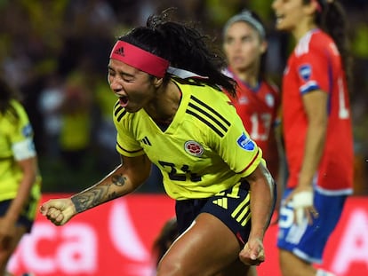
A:
<svg viewBox="0 0 368 276">
<path fill-rule="evenodd" d="M 220 56 L 220 51 L 210 49 L 213 42 L 196 28 L 169 20 L 171 10 L 151 15 L 147 27 L 134 28 L 119 39 L 169 60 L 171 67 L 207 76 L 201 82 L 219 85 L 236 95 L 235 81 L 221 72 L 226 67 L 226 60 Z"/>
</svg>

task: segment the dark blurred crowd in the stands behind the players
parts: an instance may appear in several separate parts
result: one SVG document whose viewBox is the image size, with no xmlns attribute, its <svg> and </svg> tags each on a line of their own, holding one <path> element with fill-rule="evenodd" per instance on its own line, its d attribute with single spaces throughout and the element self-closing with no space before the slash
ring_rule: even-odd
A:
<svg viewBox="0 0 368 276">
<path fill-rule="evenodd" d="M 109 91 L 109 51 L 118 35 L 177 7 L 220 48 L 221 28 L 244 8 L 268 28 L 268 74 L 280 85 L 292 41 L 274 30 L 271 0 L 0 0 L 0 74 L 21 91 L 35 130 L 44 192 L 76 192 L 120 161 Z M 354 58 L 351 105 L 356 194 L 368 194 L 368 1 L 342 0 Z M 337 133 L 336 135 L 344 135 Z M 162 193 L 154 168 L 140 193 Z"/>
</svg>

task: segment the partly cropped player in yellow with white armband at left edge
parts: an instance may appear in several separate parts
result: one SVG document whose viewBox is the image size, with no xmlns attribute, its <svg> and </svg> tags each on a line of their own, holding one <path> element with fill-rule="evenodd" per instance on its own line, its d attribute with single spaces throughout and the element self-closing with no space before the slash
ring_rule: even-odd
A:
<svg viewBox="0 0 368 276">
<path fill-rule="evenodd" d="M 0 78 L 0 275 L 21 237 L 31 231 L 40 181 L 28 115 L 16 92 Z"/>
</svg>

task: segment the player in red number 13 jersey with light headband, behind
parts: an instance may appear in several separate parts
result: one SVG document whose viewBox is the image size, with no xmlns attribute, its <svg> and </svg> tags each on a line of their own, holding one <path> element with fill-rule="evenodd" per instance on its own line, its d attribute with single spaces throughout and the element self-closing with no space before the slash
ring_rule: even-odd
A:
<svg viewBox="0 0 368 276">
<path fill-rule="evenodd" d="M 277 178 L 279 146 L 275 130 L 280 94 L 265 74 L 267 48 L 266 30 L 255 12 L 245 10 L 225 24 L 225 72 L 237 83 L 236 98 L 229 95 L 230 99 L 245 129 L 262 149 L 269 171 Z"/>
</svg>

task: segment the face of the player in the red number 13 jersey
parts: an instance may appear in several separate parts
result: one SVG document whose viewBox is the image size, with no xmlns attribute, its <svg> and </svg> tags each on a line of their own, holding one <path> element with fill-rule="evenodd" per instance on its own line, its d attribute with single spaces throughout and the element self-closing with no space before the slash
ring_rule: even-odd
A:
<svg viewBox="0 0 368 276">
<path fill-rule="evenodd" d="M 228 65 L 237 72 L 257 65 L 261 54 L 265 51 L 259 33 L 243 21 L 229 26 L 224 36 L 223 48 Z"/>
</svg>

